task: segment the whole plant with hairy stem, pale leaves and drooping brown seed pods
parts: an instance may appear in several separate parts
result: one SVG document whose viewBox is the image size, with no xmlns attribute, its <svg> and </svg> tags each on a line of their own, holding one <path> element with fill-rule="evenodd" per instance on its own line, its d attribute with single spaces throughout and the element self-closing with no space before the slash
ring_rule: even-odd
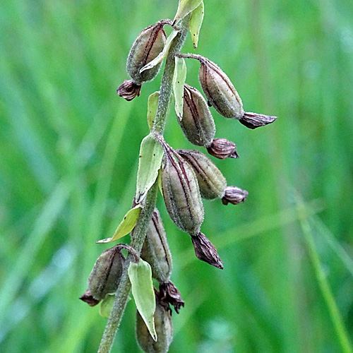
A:
<svg viewBox="0 0 353 353">
<path fill-rule="evenodd" d="M 248 192 L 228 186 L 227 180 L 210 157 L 199 150 L 174 150 L 163 138 L 167 107 L 174 93 L 175 113 L 184 136 L 193 145 L 205 148 L 221 160 L 237 158 L 236 145 L 225 138 L 215 138 L 215 122 L 210 111 L 238 120 L 248 128 L 258 128 L 275 121 L 275 116 L 244 112 L 243 103 L 232 81 L 210 59 L 198 54 L 181 54 L 190 31 L 193 46 L 203 21 L 202 0 L 179 0 L 174 20 L 160 20 L 140 32 L 128 54 L 126 69 L 130 76 L 117 93 L 130 101 L 140 95 L 148 80 L 157 76 L 165 59 L 160 91 L 148 98 L 150 133 L 140 146 L 136 193 L 133 205 L 113 237 L 97 243 L 116 241 L 131 233 L 131 243 L 117 244 L 104 250 L 88 279 L 88 289 L 80 297 L 90 306 L 100 304 L 107 317 L 98 352 L 110 352 L 116 330 L 130 291 L 136 302 L 136 337 L 144 352 L 168 352 L 172 342 L 172 309 L 179 313 L 184 301 L 170 280 L 172 256 L 156 205 L 160 185 L 167 213 L 175 225 L 188 233 L 196 257 L 216 268 L 223 268 L 215 246 L 201 232 L 204 218 L 202 199 L 220 199 L 224 205 L 243 203 Z M 164 26 L 170 26 L 169 36 Z M 185 59 L 200 62 L 198 78 L 203 94 L 186 84 Z M 121 253 L 128 251 L 128 256 Z M 153 286 L 152 278 L 159 283 Z"/>
</svg>

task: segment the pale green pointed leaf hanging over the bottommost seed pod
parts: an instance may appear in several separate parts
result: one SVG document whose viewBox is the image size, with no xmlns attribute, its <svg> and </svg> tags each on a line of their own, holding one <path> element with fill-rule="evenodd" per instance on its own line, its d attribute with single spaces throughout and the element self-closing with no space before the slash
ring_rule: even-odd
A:
<svg viewBox="0 0 353 353">
<path fill-rule="evenodd" d="M 145 321 L 153 340 L 157 341 L 155 332 L 155 292 L 152 283 L 150 264 L 140 259 L 138 263 L 131 262 L 128 266 L 128 278 L 131 282 L 131 291 L 135 299 L 136 308 Z"/>
</svg>

